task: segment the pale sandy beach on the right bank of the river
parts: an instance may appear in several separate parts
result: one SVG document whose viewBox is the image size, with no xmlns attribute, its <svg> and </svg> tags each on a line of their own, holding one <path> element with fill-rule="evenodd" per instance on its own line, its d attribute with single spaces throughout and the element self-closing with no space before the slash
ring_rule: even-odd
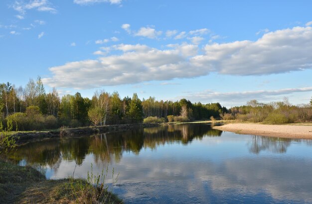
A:
<svg viewBox="0 0 312 204">
<path fill-rule="evenodd" d="M 230 123 L 214 126 L 214 129 L 238 134 L 261 135 L 270 137 L 312 139 L 312 125 L 265 125 L 252 123 Z"/>
</svg>

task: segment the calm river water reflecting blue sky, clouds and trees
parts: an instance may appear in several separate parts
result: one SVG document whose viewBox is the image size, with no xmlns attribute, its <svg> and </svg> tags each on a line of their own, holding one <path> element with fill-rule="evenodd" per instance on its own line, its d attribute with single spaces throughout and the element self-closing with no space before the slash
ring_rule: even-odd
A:
<svg viewBox="0 0 312 204">
<path fill-rule="evenodd" d="M 169 125 L 21 146 L 10 156 L 49 179 L 109 165 L 126 203 L 312 203 L 312 140 Z"/>
</svg>

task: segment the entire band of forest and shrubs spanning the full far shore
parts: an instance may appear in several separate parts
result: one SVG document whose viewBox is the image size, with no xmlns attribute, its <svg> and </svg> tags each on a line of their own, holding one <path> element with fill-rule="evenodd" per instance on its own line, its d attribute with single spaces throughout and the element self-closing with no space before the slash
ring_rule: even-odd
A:
<svg viewBox="0 0 312 204">
<path fill-rule="evenodd" d="M 96 91 L 91 99 L 79 92 L 60 97 L 55 88 L 46 93 L 42 80 L 30 79 L 25 87 L 0 84 L 0 130 L 44 130 L 59 127 L 173 122 L 224 119 L 269 124 L 312 121 L 312 99 L 309 104 L 281 102 L 261 103 L 256 100 L 229 109 L 219 102 L 202 104 L 186 99 L 157 101 L 154 97 L 140 100 L 138 95 L 121 98 L 118 92 Z"/>
</svg>

